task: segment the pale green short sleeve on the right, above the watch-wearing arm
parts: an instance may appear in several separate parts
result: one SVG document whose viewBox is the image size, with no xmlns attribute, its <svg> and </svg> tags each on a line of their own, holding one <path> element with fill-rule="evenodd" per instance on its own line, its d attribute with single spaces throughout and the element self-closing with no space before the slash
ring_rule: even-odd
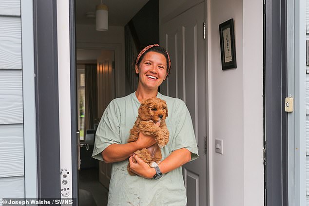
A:
<svg viewBox="0 0 309 206">
<path fill-rule="evenodd" d="M 191 152 L 192 161 L 199 157 L 192 119 L 186 104 L 178 100 L 175 105 L 175 136 L 172 141 L 172 151 L 186 148 Z"/>
</svg>

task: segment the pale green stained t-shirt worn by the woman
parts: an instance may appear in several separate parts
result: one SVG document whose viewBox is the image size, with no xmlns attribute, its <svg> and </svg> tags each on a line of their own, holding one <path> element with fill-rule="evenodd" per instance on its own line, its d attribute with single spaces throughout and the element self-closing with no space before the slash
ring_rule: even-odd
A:
<svg viewBox="0 0 309 206">
<path fill-rule="evenodd" d="M 191 151 L 191 160 L 198 158 L 192 120 L 185 103 L 160 93 L 157 97 L 167 103 L 168 117 L 165 121 L 170 131 L 169 143 L 161 149 L 162 160 L 172 151 L 181 148 Z M 94 158 L 103 160 L 101 152 L 111 144 L 127 143 L 139 106 L 135 93 L 111 101 L 97 127 Z M 128 163 L 129 160 L 124 160 L 112 165 L 108 206 L 186 205 L 186 189 L 181 167 L 154 180 L 129 175 Z"/>
</svg>

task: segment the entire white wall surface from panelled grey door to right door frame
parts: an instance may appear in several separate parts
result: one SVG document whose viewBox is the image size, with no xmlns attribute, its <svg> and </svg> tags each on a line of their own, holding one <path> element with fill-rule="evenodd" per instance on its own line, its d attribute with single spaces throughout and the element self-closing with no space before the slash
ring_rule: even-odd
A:
<svg viewBox="0 0 309 206">
<path fill-rule="evenodd" d="M 208 0 L 213 206 L 264 204 L 262 14 L 262 3 L 258 0 Z M 237 69 L 222 71 L 218 25 L 231 18 Z M 214 152 L 216 138 L 223 140 L 223 155 Z"/>
</svg>

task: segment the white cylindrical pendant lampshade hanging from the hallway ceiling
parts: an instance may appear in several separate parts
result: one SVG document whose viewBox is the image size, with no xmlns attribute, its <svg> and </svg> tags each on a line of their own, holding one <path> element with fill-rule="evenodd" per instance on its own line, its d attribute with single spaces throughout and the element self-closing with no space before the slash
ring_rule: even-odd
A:
<svg viewBox="0 0 309 206">
<path fill-rule="evenodd" d="M 96 29 L 97 31 L 108 30 L 108 7 L 105 4 L 96 6 Z"/>
</svg>

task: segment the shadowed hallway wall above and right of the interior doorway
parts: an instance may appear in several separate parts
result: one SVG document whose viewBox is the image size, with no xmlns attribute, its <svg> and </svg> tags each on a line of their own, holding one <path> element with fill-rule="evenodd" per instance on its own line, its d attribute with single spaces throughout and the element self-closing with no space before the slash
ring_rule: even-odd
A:
<svg viewBox="0 0 309 206">
<path fill-rule="evenodd" d="M 77 24 L 77 49 L 115 51 L 116 96 L 125 95 L 124 27 L 109 26 L 108 31 L 98 32 L 95 25 Z"/>
</svg>

